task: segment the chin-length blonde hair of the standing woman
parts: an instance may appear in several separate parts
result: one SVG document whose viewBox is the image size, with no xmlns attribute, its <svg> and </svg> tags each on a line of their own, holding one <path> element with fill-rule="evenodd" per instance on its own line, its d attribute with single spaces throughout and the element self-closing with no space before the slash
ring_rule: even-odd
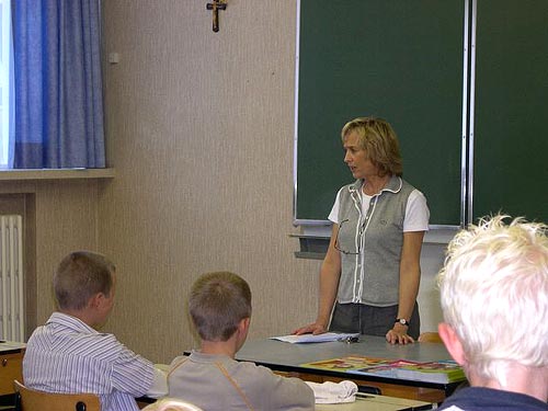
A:
<svg viewBox="0 0 548 411">
<path fill-rule="evenodd" d="M 359 148 L 367 152 L 379 175 L 401 175 L 403 165 L 400 145 L 392 126 L 384 118 L 357 117 L 346 123 L 341 132 L 343 144 L 355 132 Z"/>
</svg>

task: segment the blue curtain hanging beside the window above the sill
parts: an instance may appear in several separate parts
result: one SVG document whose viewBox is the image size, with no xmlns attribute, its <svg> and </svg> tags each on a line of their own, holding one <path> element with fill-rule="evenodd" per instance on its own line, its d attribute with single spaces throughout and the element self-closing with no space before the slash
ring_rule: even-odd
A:
<svg viewBox="0 0 548 411">
<path fill-rule="evenodd" d="M 12 10 L 13 167 L 105 167 L 100 0 L 15 0 Z"/>
</svg>

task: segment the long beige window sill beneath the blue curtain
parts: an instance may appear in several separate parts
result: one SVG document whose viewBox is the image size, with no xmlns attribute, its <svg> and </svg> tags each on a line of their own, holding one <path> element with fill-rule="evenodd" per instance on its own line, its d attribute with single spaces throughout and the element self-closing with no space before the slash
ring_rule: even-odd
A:
<svg viewBox="0 0 548 411">
<path fill-rule="evenodd" d="M 28 169 L 0 170 L 0 181 L 113 179 L 114 169 Z"/>
</svg>

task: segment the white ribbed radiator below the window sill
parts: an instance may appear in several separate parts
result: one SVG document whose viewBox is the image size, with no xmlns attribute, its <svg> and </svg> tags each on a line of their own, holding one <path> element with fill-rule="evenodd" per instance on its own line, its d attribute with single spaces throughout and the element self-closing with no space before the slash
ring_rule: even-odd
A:
<svg viewBox="0 0 548 411">
<path fill-rule="evenodd" d="M 0 216 L 0 339 L 24 342 L 23 219 Z"/>
</svg>

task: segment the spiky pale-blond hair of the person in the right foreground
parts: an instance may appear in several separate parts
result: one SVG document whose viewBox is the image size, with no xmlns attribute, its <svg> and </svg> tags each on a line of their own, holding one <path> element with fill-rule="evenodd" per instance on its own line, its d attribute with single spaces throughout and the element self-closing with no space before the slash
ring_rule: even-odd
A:
<svg viewBox="0 0 548 411">
<path fill-rule="evenodd" d="M 466 369 L 503 386 L 511 365 L 548 366 L 548 228 L 509 219 L 483 218 L 457 233 L 438 274 Z"/>
</svg>

